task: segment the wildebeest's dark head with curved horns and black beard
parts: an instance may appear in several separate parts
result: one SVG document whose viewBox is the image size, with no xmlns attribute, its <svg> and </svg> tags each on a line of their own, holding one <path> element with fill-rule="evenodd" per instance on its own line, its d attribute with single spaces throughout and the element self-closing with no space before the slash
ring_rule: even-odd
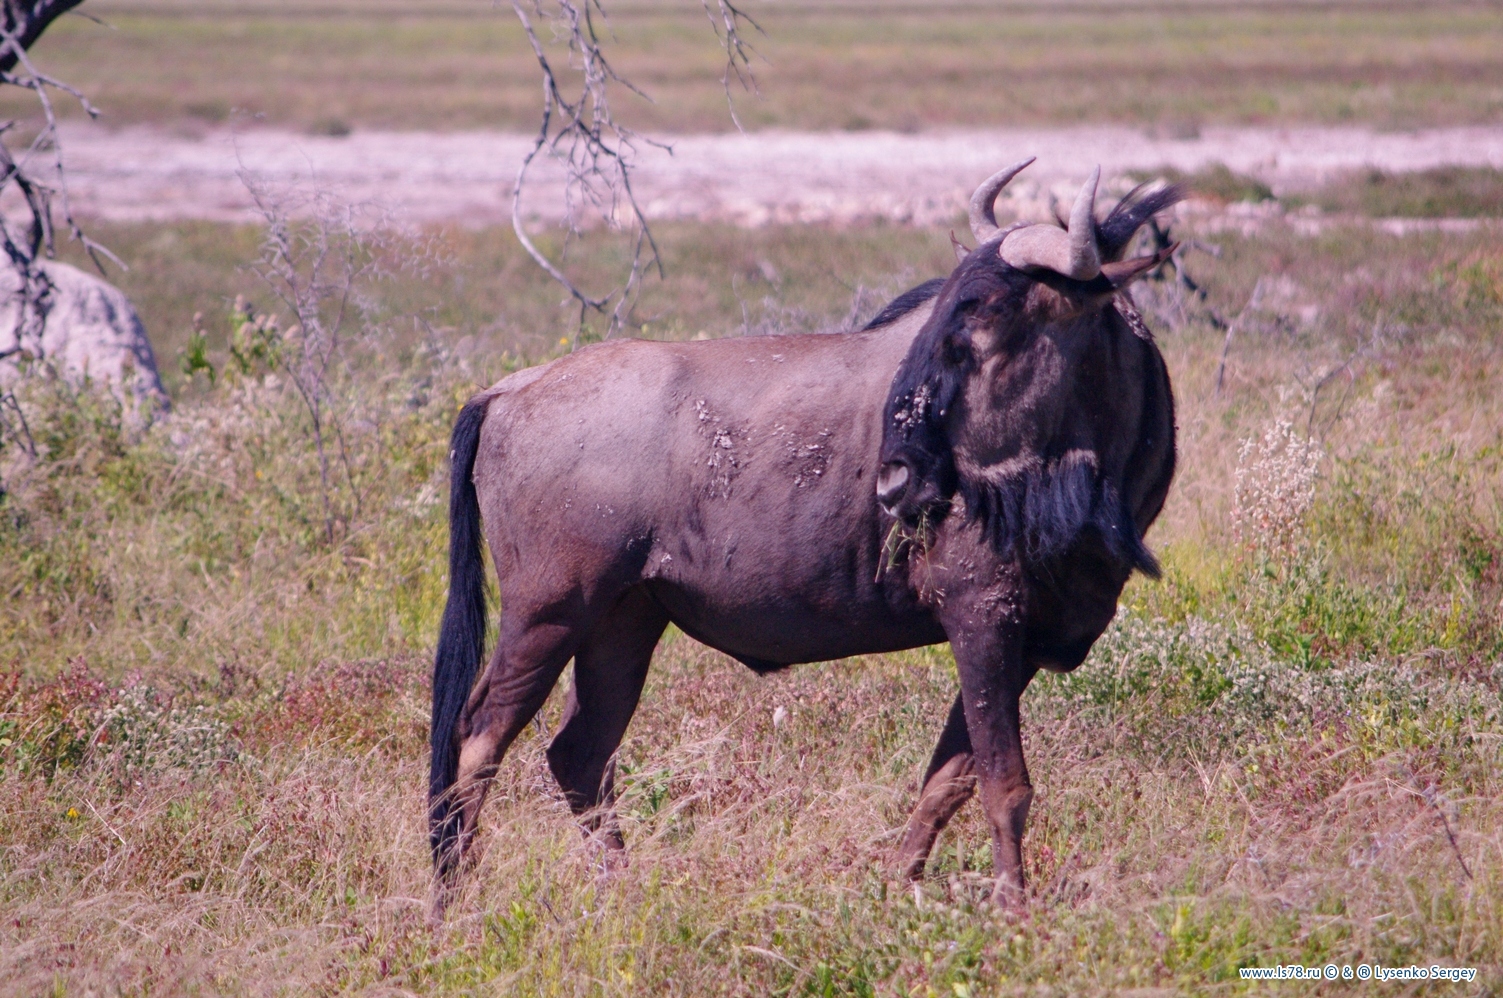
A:
<svg viewBox="0 0 1503 998">
<path fill-rule="evenodd" d="M 1030 562 L 1094 526 L 1121 562 L 1156 573 L 1129 466 L 1142 463 L 1147 434 L 1172 469 L 1172 409 L 1162 359 L 1118 293 L 1168 259 L 1121 256 L 1183 194 L 1138 188 L 1097 221 L 1097 168 L 1067 222 L 999 230 L 992 204 L 1028 162 L 971 198 L 981 245 L 945 281 L 893 379 L 878 501 L 909 525 L 963 505 L 1006 555 Z M 1154 401 L 1145 392 L 1160 380 Z"/>
</svg>

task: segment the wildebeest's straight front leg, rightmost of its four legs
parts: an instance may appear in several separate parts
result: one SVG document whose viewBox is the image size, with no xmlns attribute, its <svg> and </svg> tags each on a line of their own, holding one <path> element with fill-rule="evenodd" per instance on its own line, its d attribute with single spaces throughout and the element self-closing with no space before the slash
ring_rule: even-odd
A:
<svg viewBox="0 0 1503 998">
<path fill-rule="evenodd" d="M 1024 657 L 1025 595 L 1022 571 L 1001 565 L 989 585 L 951 591 L 941 607 L 960 673 L 981 809 L 992 827 L 992 897 L 1013 908 L 1024 900 L 1024 825 L 1033 803 L 1018 703 L 1036 672 Z"/>
</svg>

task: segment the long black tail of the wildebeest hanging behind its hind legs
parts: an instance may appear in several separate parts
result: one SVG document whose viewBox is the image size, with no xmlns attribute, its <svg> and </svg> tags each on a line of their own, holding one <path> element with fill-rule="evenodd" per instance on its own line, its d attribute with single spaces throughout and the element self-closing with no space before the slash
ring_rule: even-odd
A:
<svg viewBox="0 0 1503 998">
<path fill-rule="evenodd" d="M 433 762 L 428 770 L 428 840 L 433 861 L 439 866 L 449 857 L 458 834 L 458 809 L 449 800 L 460 764 L 454 727 L 485 654 L 484 538 L 479 499 L 470 476 L 490 398 L 470 398 L 449 437 L 449 460 L 454 464 L 449 472 L 449 601 L 443 607 L 439 651 L 433 657 Z"/>
</svg>

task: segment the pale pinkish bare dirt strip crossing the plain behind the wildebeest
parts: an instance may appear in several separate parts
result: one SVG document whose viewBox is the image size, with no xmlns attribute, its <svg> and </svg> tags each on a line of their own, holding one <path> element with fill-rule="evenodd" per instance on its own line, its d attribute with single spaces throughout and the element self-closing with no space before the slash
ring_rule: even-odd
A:
<svg viewBox="0 0 1503 998">
<path fill-rule="evenodd" d="M 1127 170 L 1223 162 L 1275 191 L 1363 167 L 1503 168 L 1503 126 L 1375 132 L 1366 128 L 1207 128 L 1190 138 L 1130 128 L 684 135 L 672 155 L 643 146 L 636 188 L 652 219 L 741 225 L 885 218 L 951 221 L 993 170 L 1039 156 L 1015 180 L 1021 215 L 1069 198 L 1096 164 L 1123 188 Z M 317 186 L 373 201 L 409 224 L 488 225 L 510 219 L 511 188 L 531 138 L 499 132 L 355 132 L 343 138 L 274 129 L 182 135 L 147 128 L 66 126 L 69 191 L 81 215 L 110 219 L 254 218 L 240 171 L 274 186 Z M 562 173 L 534 167 L 526 213 L 558 219 Z"/>
</svg>

